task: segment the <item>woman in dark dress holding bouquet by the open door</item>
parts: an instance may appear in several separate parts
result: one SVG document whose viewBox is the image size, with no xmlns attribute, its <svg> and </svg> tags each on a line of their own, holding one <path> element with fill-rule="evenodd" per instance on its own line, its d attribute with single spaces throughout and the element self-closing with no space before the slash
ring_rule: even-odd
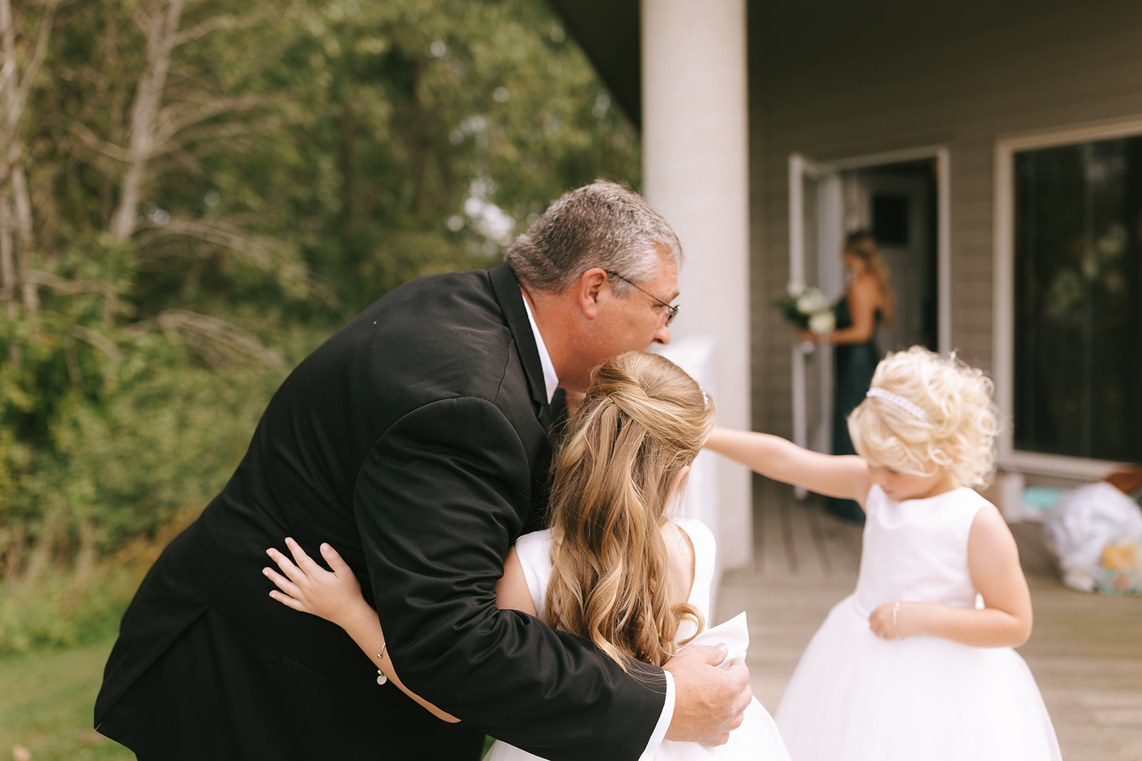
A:
<svg viewBox="0 0 1142 761">
<path fill-rule="evenodd" d="M 802 333 L 803 340 L 831 343 L 833 350 L 833 454 L 856 454 L 849 438 L 849 413 L 864 400 L 872 381 L 872 371 L 880 361 L 876 346 L 876 329 L 891 323 L 895 294 L 888 266 L 876 249 L 876 238 L 868 230 L 851 233 L 845 240 L 845 268 L 851 275 L 849 289 L 834 311 L 836 326 L 831 333 Z M 829 499 L 829 512 L 864 523 L 864 512 L 852 500 Z"/>
</svg>

